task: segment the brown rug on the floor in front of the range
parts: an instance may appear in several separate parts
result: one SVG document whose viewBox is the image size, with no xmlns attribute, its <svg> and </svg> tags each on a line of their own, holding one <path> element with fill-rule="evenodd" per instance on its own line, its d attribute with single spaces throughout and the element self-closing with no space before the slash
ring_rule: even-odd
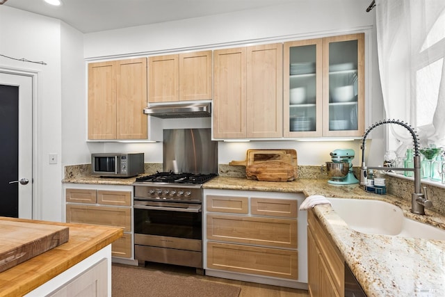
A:
<svg viewBox="0 0 445 297">
<path fill-rule="evenodd" d="M 111 266 L 113 297 L 238 297 L 240 288 L 131 266 Z"/>
</svg>

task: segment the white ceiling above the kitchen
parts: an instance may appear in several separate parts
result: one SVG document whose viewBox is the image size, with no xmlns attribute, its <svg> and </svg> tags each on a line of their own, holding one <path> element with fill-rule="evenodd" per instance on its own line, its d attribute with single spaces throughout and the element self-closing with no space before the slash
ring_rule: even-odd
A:
<svg viewBox="0 0 445 297">
<path fill-rule="evenodd" d="M 4 6 L 61 19 L 83 33 L 277 6 L 297 0 L 7 0 Z M 0 1 L 1 2 L 1 1 Z"/>
</svg>

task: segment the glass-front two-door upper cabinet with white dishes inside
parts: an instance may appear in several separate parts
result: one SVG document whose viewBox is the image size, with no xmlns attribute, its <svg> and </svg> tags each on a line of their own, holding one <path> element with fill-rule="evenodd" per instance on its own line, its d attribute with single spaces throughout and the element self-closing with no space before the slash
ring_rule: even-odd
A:
<svg viewBox="0 0 445 297">
<path fill-rule="evenodd" d="M 364 33 L 284 43 L 284 136 L 362 136 Z"/>
</svg>

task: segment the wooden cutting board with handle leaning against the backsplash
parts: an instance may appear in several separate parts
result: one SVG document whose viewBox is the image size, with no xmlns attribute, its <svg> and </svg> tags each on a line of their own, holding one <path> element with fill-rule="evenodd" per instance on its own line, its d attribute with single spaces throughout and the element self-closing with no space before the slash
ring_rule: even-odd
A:
<svg viewBox="0 0 445 297">
<path fill-rule="evenodd" d="M 285 182 L 297 178 L 296 150 L 248 150 L 245 161 L 231 161 L 229 165 L 245 166 L 248 179 Z"/>
</svg>

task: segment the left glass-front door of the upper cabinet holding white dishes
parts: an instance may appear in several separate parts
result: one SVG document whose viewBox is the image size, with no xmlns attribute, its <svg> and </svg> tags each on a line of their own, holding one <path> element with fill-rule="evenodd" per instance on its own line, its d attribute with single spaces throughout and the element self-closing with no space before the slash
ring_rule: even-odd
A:
<svg viewBox="0 0 445 297">
<path fill-rule="evenodd" d="M 322 136 L 322 39 L 284 43 L 284 136 Z"/>
</svg>

